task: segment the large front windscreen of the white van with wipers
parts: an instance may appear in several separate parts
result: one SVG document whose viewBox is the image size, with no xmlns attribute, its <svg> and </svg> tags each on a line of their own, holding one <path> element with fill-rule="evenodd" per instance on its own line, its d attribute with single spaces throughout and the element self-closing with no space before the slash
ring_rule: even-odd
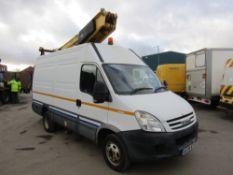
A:
<svg viewBox="0 0 233 175">
<path fill-rule="evenodd" d="M 165 90 L 157 76 L 147 66 L 104 64 L 103 67 L 117 94 L 144 94 Z"/>
</svg>

